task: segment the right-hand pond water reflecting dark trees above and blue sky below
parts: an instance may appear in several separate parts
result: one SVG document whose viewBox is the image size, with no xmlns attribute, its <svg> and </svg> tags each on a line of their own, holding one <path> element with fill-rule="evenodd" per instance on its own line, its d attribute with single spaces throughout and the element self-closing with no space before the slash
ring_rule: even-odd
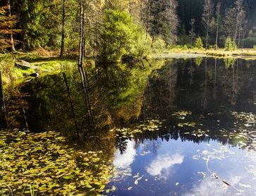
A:
<svg viewBox="0 0 256 196">
<path fill-rule="evenodd" d="M 118 142 L 114 160 L 126 142 L 136 155 L 114 195 L 256 194 L 255 62 L 228 62 L 166 61 L 152 74 L 139 120 L 163 123 Z"/>
</svg>

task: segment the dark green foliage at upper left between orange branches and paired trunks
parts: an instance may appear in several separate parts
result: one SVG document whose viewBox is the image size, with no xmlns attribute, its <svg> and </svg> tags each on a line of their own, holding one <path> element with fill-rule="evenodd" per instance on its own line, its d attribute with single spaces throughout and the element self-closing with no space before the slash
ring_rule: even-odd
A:
<svg viewBox="0 0 256 196">
<path fill-rule="evenodd" d="M 20 41 L 23 49 L 33 50 L 37 47 L 56 49 L 60 46 L 62 0 L 13 0 L 11 3 L 12 12 L 20 19 L 18 28 L 22 30 Z M 73 32 L 72 25 L 78 12 L 77 5 L 74 0 L 68 1 L 68 6 L 66 5 L 66 37 L 71 36 Z"/>
</svg>

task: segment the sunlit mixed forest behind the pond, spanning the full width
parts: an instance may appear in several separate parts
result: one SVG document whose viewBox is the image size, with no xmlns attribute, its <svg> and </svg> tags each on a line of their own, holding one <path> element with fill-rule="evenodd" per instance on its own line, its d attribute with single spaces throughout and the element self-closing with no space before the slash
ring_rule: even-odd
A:
<svg viewBox="0 0 256 196">
<path fill-rule="evenodd" d="M 256 45 L 253 0 L 2 0 L 0 6 L 2 51 L 74 54 L 80 25 L 86 54 L 115 60 L 141 57 L 150 49 L 224 48 L 228 37 L 238 48 Z"/>
</svg>

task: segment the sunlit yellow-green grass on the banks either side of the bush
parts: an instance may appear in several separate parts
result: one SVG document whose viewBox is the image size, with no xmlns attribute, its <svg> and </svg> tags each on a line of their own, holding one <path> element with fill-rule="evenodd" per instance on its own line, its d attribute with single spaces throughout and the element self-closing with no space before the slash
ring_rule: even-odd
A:
<svg viewBox="0 0 256 196">
<path fill-rule="evenodd" d="M 162 49 L 157 51 L 159 54 L 151 54 L 147 59 L 151 58 L 172 58 L 173 54 L 183 54 L 175 56 L 175 58 L 194 58 L 198 56 L 212 56 L 217 58 L 241 58 L 241 59 L 256 59 L 255 49 L 236 49 L 234 51 L 226 51 L 225 49 L 188 49 L 188 47 L 175 47 L 173 49 Z M 197 55 L 197 56 L 193 56 Z M 37 67 L 34 69 L 23 70 L 14 66 L 17 59 L 28 61 L 31 66 Z M 31 73 L 39 73 L 39 75 L 54 73 L 61 71 L 63 65 L 75 67 L 77 56 L 67 56 L 59 58 L 50 51 L 33 51 L 28 53 L 16 52 L 15 54 L 0 54 L 0 68 L 2 70 L 2 80 L 4 85 L 12 83 L 17 84 L 23 82 Z"/>
</svg>

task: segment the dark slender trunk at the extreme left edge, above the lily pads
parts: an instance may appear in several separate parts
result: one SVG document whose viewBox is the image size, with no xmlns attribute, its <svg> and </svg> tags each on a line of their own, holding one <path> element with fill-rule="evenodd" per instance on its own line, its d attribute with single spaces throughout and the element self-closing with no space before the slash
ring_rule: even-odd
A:
<svg viewBox="0 0 256 196">
<path fill-rule="evenodd" d="M 8 128 L 6 118 L 6 105 L 4 103 L 4 87 L 0 69 L 0 128 Z"/>
</svg>

